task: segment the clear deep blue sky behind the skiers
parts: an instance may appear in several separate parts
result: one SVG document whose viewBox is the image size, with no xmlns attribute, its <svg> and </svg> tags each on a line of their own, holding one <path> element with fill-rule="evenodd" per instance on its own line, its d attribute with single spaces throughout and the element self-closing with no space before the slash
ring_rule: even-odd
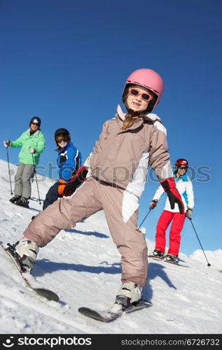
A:
<svg viewBox="0 0 222 350">
<path fill-rule="evenodd" d="M 222 248 L 221 13 L 221 0 L 1 0 L 1 140 L 17 139 L 39 116 L 46 137 L 39 172 L 56 179 L 49 171 L 55 130 L 66 127 L 85 160 L 102 123 L 113 118 L 127 76 L 158 71 L 165 92 L 155 113 L 167 127 L 172 162 L 186 158 L 192 167 L 193 224 L 205 250 Z M 18 152 L 9 151 L 13 164 Z M 149 174 L 139 223 L 158 186 Z M 144 223 L 149 239 L 164 203 L 162 196 Z M 181 251 L 197 248 L 187 220 Z"/>
</svg>

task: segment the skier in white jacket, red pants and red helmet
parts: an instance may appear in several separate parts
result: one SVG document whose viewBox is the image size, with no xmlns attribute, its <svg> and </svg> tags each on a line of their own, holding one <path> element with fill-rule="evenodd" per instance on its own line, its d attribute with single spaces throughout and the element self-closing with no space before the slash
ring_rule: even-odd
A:
<svg viewBox="0 0 222 350">
<path fill-rule="evenodd" d="M 181 231 L 183 229 L 185 218 L 191 218 L 194 207 L 193 185 L 188 178 L 188 175 L 186 174 L 188 169 L 188 161 L 186 159 L 180 158 L 179 160 L 176 160 L 175 167 L 176 170 L 174 172 L 174 179 L 176 182 L 176 188 L 183 200 L 184 213 L 181 214 L 179 212 L 177 204 L 175 204 L 174 209 L 172 209 L 167 198 L 165 202 L 165 208 L 158 220 L 155 234 L 155 249 L 151 254 L 156 258 L 165 258 L 165 260 L 174 263 L 178 262 Z M 164 190 L 162 186 L 160 186 L 153 196 L 153 200 L 150 203 L 150 209 L 155 208 L 155 205 L 162 196 L 162 193 L 164 193 Z M 171 221 L 172 225 L 169 231 L 169 249 L 167 251 L 167 255 L 165 255 L 166 230 Z"/>
</svg>

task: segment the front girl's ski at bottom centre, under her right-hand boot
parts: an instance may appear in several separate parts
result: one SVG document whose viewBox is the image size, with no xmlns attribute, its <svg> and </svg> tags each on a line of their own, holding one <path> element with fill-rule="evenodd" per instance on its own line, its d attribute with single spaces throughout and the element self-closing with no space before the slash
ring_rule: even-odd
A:
<svg viewBox="0 0 222 350">
<path fill-rule="evenodd" d="M 126 307 L 125 309 L 120 309 L 120 311 L 112 312 L 111 310 L 95 310 L 90 309 L 89 307 L 79 307 L 78 312 L 80 312 L 82 315 L 94 318 L 97 321 L 102 322 L 111 322 L 113 320 L 116 320 L 116 318 L 119 318 L 124 313 L 130 314 L 130 312 L 138 311 L 140 309 L 144 309 L 145 307 L 151 307 L 153 304 L 152 302 L 148 302 L 148 300 L 141 299 L 139 302 L 134 303 L 130 307 Z"/>
</svg>

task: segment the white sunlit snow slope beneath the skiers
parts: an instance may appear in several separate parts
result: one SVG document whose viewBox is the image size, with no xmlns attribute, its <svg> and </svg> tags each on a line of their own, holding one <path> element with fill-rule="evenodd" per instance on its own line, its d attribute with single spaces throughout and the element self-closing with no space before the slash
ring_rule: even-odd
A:
<svg viewBox="0 0 222 350">
<path fill-rule="evenodd" d="M 11 172 L 15 166 L 10 165 Z M 15 243 L 41 211 L 36 182 L 30 207 L 9 202 L 8 164 L 0 160 L 0 239 Z M 38 176 L 43 201 L 53 180 Z M 12 181 L 14 179 L 12 178 Z M 154 242 L 147 239 L 148 251 Z M 207 266 L 206 258 L 211 263 Z M 49 288 L 60 302 L 47 301 L 29 290 L 3 249 L 1 256 L 0 329 L 3 334 L 221 334 L 222 250 L 180 253 L 179 267 L 149 260 L 144 297 L 153 307 L 123 314 L 112 323 L 101 323 L 78 313 L 78 307 L 109 309 L 120 287 L 120 254 L 113 244 L 104 212 L 62 230 L 41 248 L 30 279 Z"/>
</svg>

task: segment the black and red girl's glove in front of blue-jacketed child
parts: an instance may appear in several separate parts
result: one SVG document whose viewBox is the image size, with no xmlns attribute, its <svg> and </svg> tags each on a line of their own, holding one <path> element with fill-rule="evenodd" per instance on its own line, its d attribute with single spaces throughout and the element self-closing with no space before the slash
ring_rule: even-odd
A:
<svg viewBox="0 0 222 350">
<path fill-rule="evenodd" d="M 83 167 L 80 167 L 78 169 L 76 175 L 73 176 L 69 182 L 60 185 L 61 187 L 59 186 L 58 193 L 64 197 L 71 196 L 75 192 L 76 188 L 78 188 L 78 186 L 86 180 L 87 174 L 88 168 L 83 165 Z M 59 180 L 59 182 L 62 181 L 64 180 Z M 59 191 L 61 191 L 62 193 L 60 193 Z"/>
</svg>

